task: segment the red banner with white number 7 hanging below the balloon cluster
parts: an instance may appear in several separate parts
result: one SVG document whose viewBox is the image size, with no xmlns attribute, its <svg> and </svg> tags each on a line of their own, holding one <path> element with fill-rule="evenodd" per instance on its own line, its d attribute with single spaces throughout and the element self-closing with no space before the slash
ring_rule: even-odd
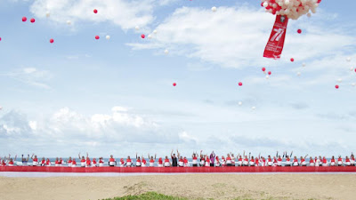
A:
<svg viewBox="0 0 356 200">
<path fill-rule="evenodd" d="M 271 32 L 270 39 L 264 49 L 263 57 L 269 59 L 280 59 L 282 54 L 284 39 L 286 38 L 288 18 L 284 15 L 277 15 Z"/>
</svg>

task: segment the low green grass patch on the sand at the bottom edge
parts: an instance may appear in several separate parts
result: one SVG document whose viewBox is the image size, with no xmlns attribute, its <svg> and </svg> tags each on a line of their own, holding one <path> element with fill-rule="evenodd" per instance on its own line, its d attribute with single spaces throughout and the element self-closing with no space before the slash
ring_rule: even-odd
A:
<svg viewBox="0 0 356 200">
<path fill-rule="evenodd" d="M 165 196 L 162 194 L 158 194 L 156 192 L 147 192 L 138 196 L 122 196 L 115 198 L 107 198 L 103 200 L 188 200 L 188 198 L 178 197 L 178 196 Z"/>
</svg>

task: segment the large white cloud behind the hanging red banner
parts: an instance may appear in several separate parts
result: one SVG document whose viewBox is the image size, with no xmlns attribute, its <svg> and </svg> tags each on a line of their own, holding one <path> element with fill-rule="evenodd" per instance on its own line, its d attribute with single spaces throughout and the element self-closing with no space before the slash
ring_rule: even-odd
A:
<svg viewBox="0 0 356 200">
<path fill-rule="evenodd" d="M 342 51 L 346 45 L 356 44 L 354 36 L 340 28 L 318 26 L 315 21 L 301 22 L 308 33 L 298 35 L 294 31 L 298 21 L 291 21 L 283 52 L 285 59 L 276 63 L 263 58 L 273 22 L 271 14 L 247 5 L 219 7 L 217 12 L 182 7 L 158 25 L 158 36 L 150 44 L 128 45 L 134 49 L 168 48 L 170 54 L 198 58 L 222 67 L 250 68 L 280 66 L 291 57 L 300 61 L 329 56 Z"/>
</svg>

